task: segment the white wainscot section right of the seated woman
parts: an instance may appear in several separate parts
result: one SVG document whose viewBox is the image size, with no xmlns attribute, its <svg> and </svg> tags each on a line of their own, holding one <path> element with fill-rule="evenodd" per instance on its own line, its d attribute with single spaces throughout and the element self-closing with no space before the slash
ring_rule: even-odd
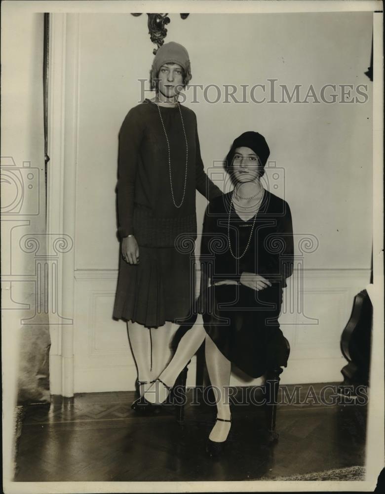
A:
<svg viewBox="0 0 385 494">
<path fill-rule="evenodd" d="M 364 269 L 304 270 L 294 273 L 290 307 L 294 326 L 286 326 L 287 314 L 280 318 L 291 353 L 281 382 L 342 381 L 346 365 L 340 349 L 341 334 L 350 317 L 354 296 L 364 289 L 370 271 Z"/>
</svg>

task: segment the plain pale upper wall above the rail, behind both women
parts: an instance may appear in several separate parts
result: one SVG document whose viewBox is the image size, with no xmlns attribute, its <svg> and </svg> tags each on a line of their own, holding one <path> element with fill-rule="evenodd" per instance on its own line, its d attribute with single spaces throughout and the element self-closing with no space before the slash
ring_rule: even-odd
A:
<svg viewBox="0 0 385 494">
<path fill-rule="evenodd" d="M 166 41 L 188 48 L 192 83 L 252 85 L 277 79 L 277 84 L 289 88 L 313 84 L 318 90 L 327 83 L 364 83 L 371 94 L 371 82 L 364 75 L 370 64 L 371 13 L 170 18 Z M 77 269 L 116 269 L 117 132 L 138 101 L 137 80 L 148 76 L 153 46 L 146 15 L 80 16 L 78 194 L 84 201 L 78 210 Z M 214 98 L 214 92 L 209 95 Z M 286 171 L 286 198 L 295 231 L 312 233 L 320 241 L 306 267 L 370 267 L 371 101 L 361 105 L 203 101 L 190 107 L 197 115 L 206 166 L 223 159 L 242 131 L 253 129 L 266 136 L 269 160 Z M 202 214 L 205 200 L 199 197 L 197 203 Z M 100 242 L 100 235 L 110 241 Z"/>
</svg>

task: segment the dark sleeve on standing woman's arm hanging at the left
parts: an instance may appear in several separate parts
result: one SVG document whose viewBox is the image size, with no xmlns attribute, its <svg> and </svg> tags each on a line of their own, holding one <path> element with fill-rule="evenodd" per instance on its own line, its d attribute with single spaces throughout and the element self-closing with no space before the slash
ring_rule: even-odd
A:
<svg viewBox="0 0 385 494">
<path fill-rule="evenodd" d="M 135 177 L 144 128 L 144 122 L 134 110 L 128 112 L 119 132 L 117 213 L 121 239 L 134 234 Z"/>
</svg>

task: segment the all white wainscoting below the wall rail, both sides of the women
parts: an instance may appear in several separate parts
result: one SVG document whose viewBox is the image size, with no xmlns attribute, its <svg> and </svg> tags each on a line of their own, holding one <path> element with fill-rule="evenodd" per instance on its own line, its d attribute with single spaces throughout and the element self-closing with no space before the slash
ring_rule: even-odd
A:
<svg viewBox="0 0 385 494">
<path fill-rule="evenodd" d="M 126 325 L 112 318 L 116 270 L 76 272 L 75 391 L 133 390 L 135 362 Z M 340 338 L 353 298 L 368 284 L 369 270 L 310 270 L 285 290 L 280 325 L 291 354 L 281 375 L 283 384 L 341 381 L 346 360 Z M 298 280 L 301 280 L 300 282 Z M 195 384 L 195 358 L 188 386 Z M 231 385 L 257 385 L 233 370 Z"/>
</svg>

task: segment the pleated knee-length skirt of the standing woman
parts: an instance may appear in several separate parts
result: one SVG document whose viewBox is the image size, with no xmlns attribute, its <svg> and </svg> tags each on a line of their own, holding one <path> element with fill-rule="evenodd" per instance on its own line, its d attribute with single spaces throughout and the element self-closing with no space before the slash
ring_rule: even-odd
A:
<svg viewBox="0 0 385 494">
<path fill-rule="evenodd" d="M 113 317 L 147 328 L 166 321 L 182 324 L 195 303 L 195 266 L 191 253 L 174 247 L 139 247 L 140 263 L 120 256 Z"/>
</svg>

